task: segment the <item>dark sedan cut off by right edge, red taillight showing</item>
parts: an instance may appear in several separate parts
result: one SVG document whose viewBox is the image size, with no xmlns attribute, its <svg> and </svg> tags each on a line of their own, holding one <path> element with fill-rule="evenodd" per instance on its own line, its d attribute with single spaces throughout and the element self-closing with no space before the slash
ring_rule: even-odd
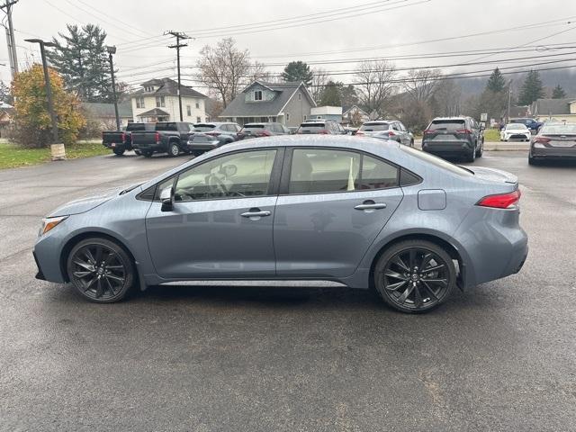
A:
<svg viewBox="0 0 576 432">
<path fill-rule="evenodd" d="M 576 124 L 546 121 L 530 142 L 528 163 L 550 159 L 576 160 Z"/>
</svg>

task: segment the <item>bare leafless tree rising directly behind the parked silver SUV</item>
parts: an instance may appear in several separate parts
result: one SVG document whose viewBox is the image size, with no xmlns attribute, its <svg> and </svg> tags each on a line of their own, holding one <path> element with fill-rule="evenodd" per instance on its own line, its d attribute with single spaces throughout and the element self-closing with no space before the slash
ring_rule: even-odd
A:
<svg viewBox="0 0 576 432">
<path fill-rule="evenodd" d="M 358 101 L 369 110 L 371 116 L 383 118 L 386 103 L 395 91 L 393 80 L 396 68 L 386 60 L 370 60 L 360 63 L 355 75 Z"/>
</svg>

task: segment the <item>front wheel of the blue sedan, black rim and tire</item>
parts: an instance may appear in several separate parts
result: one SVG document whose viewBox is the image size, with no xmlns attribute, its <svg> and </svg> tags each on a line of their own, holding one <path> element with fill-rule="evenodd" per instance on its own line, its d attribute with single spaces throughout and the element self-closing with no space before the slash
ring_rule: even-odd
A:
<svg viewBox="0 0 576 432">
<path fill-rule="evenodd" d="M 119 302 L 136 280 L 132 259 L 107 238 L 85 238 L 67 257 L 67 276 L 76 292 L 90 302 Z"/>
</svg>

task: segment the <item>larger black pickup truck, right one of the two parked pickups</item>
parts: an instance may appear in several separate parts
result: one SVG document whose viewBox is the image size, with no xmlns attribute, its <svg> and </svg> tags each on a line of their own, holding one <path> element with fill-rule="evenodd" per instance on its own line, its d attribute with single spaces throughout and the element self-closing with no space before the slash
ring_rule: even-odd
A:
<svg viewBox="0 0 576 432">
<path fill-rule="evenodd" d="M 189 153 L 186 146 L 194 126 L 186 121 L 159 121 L 154 130 L 132 133 L 132 148 L 145 157 L 154 153 L 167 153 L 176 157 L 181 151 Z"/>
</svg>

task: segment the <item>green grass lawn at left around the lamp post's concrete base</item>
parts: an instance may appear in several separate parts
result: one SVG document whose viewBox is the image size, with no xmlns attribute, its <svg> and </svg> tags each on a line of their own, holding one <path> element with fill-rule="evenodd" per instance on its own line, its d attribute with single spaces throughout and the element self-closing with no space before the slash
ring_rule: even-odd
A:
<svg viewBox="0 0 576 432">
<path fill-rule="evenodd" d="M 104 148 L 101 141 L 78 141 L 66 146 L 66 157 L 91 157 L 107 155 L 110 150 Z M 49 148 L 20 148 L 12 143 L 0 142 L 0 169 L 17 166 L 37 165 L 50 160 Z"/>
</svg>

